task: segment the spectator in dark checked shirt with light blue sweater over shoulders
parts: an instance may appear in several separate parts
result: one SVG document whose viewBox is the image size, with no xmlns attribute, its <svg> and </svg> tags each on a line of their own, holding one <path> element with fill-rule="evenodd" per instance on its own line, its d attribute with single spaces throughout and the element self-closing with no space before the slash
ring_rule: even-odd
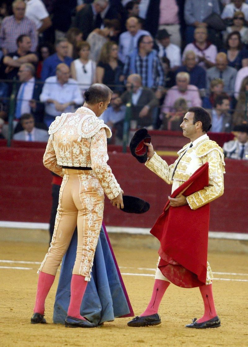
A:
<svg viewBox="0 0 248 347">
<path fill-rule="evenodd" d="M 123 75 L 137 73 L 142 77 L 142 85 L 157 90 L 164 86 L 164 71 L 160 58 L 153 48 L 153 38 L 142 35 L 138 39 L 138 48 L 128 54 Z"/>
</svg>

